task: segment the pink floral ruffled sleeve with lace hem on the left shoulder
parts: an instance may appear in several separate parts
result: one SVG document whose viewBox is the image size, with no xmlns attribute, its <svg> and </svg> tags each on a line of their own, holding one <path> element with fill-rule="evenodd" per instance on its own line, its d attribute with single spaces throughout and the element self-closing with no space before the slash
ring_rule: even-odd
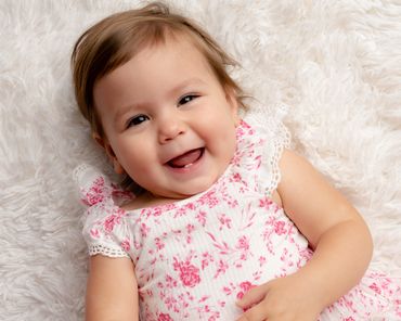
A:
<svg viewBox="0 0 401 321">
<path fill-rule="evenodd" d="M 81 202 L 87 206 L 82 217 L 82 234 L 89 255 L 130 257 L 132 237 L 127 226 L 127 214 L 115 204 L 115 197 L 130 195 L 88 165 L 77 167 L 74 178 Z"/>
</svg>

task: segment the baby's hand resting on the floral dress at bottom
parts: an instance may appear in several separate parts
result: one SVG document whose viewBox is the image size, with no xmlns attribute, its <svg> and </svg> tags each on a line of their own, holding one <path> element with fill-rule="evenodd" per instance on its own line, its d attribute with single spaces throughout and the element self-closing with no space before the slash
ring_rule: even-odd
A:
<svg viewBox="0 0 401 321">
<path fill-rule="evenodd" d="M 237 321 L 315 321 L 322 298 L 297 273 L 249 290 L 237 306 L 246 312 Z"/>
</svg>

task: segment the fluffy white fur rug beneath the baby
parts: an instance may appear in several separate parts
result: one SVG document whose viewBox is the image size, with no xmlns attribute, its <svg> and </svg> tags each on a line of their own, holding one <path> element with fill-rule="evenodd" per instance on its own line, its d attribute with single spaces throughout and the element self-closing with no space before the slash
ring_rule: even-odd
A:
<svg viewBox="0 0 401 321">
<path fill-rule="evenodd" d="M 367 220 L 373 265 L 401 275 L 401 2 L 170 1 L 243 65 L 266 105 L 285 103 L 296 151 Z M 138 1 L 0 1 L 0 319 L 82 320 L 82 162 L 106 169 L 70 85 L 77 37 Z"/>
</svg>

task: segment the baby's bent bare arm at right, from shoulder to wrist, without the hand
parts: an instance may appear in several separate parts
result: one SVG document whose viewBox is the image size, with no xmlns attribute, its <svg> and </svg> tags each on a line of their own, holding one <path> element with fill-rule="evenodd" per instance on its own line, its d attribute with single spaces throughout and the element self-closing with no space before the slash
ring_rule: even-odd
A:
<svg viewBox="0 0 401 321">
<path fill-rule="evenodd" d="M 372 257 L 371 233 L 352 205 L 303 158 L 285 152 L 281 167 L 283 207 L 314 249 L 302 273 L 327 288 L 324 303 L 332 304 L 363 277 Z"/>
</svg>

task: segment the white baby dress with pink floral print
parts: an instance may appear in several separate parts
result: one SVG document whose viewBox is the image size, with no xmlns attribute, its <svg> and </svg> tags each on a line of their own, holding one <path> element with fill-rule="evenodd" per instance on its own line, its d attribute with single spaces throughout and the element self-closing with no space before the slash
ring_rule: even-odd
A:
<svg viewBox="0 0 401 321">
<path fill-rule="evenodd" d="M 211 188 L 130 211 L 116 201 L 130 195 L 93 172 L 81 188 L 83 235 L 91 255 L 132 259 L 142 320 L 235 320 L 246 292 L 310 259 L 307 240 L 268 192 L 276 188 L 281 150 L 274 132 L 243 121 L 231 166 Z M 370 271 L 320 320 L 401 320 L 399 283 Z"/>
</svg>

